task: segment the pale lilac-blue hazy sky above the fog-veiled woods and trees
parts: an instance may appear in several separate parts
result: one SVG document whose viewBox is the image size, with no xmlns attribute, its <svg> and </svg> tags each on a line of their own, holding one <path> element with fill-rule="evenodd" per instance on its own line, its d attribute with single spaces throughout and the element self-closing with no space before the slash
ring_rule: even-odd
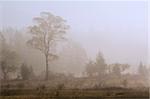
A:
<svg viewBox="0 0 150 99">
<path fill-rule="evenodd" d="M 146 63 L 148 7 L 142 1 L 1 2 L 0 26 L 24 28 L 48 11 L 70 25 L 68 35 L 80 43 L 89 58 L 100 50 L 108 63 Z"/>
</svg>

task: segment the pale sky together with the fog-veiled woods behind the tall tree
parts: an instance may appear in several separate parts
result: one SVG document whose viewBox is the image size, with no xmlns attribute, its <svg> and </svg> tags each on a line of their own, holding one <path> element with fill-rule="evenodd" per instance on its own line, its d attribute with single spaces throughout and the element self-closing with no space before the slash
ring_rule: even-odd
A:
<svg viewBox="0 0 150 99">
<path fill-rule="evenodd" d="M 131 65 L 129 71 L 133 73 L 140 62 L 147 64 L 147 2 L 1 1 L 0 27 L 18 31 L 4 35 L 10 43 L 14 41 L 13 48 L 22 61 L 32 65 L 36 72 L 45 70 L 45 60 L 40 51 L 26 45 L 31 38 L 27 28 L 43 11 L 62 17 L 70 26 L 68 40 L 55 49 L 59 59 L 50 63 L 52 71 L 82 75 L 85 65 L 89 60 L 94 61 L 98 52 L 103 53 L 107 64 Z"/>
</svg>

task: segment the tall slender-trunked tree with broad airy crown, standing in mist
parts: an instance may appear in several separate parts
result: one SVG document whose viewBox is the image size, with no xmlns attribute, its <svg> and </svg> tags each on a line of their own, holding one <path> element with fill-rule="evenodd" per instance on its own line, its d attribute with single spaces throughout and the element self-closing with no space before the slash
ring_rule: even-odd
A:
<svg viewBox="0 0 150 99">
<path fill-rule="evenodd" d="M 64 19 L 49 12 L 42 12 L 40 17 L 35 17 L 33 20 L 37 23 L 29 27 L 32 39 L 27 43 L 45 55 L 45 80 L 48 80 L 49 60 L 56 58 L 56 55 L 52 52 L 52 48 L 56 44 L 56 41 L 65 39 L 64 34 L 69 26 L 65 24 L 66 21 Z"/>
</svg>

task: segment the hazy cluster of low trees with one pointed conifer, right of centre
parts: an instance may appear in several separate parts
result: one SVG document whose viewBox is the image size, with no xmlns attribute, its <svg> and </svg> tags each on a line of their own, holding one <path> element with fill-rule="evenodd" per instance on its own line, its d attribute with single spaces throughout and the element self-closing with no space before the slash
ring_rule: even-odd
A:
<svg viewBox="0 0 150 99">
<path fill-rule="evenodd" d="M 89 61 L 86 66 L 86 73 L 88 76 L 103 77 L 106 74 L 121 76 L 122 72 L 127 70 L 130 66 L 128 64 L 107 64 L 101 52 L 98 53 L 95 62 Z"/>
</svg>

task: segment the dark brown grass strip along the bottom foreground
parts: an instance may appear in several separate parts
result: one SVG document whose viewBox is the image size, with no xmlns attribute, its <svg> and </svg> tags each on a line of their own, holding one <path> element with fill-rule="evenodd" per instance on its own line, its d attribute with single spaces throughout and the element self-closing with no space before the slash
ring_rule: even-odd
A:
<svg viewBox="0 0 150 99">
<path fill-rule="evenodd" d="M 0 99 L 149 99 L 148 90 L 133 89 L 9 89 Z"/>
</svg>

